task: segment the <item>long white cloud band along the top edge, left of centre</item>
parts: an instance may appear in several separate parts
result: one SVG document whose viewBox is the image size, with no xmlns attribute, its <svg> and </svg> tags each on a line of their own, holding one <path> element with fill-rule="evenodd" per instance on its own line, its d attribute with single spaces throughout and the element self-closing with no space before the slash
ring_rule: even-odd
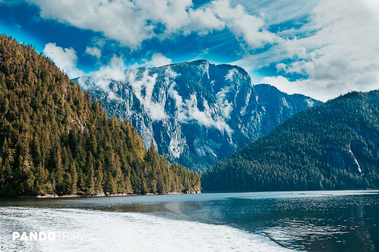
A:
<svg viewBox="0 0 379 252">
<path fill-rule="evenodd" d="M 152 38 L 205 35 L 225 28 L 253 49 L 276 40 L 275 34 L 265 29 L 262 17 L 250 15 L 242 5 L 230 6 L 229 0 L 213 1 L 199 8 L 192 0 L 27 1 L 39 7 L 43 18 L 101 32 L 132 49 Z"/>
</svg>

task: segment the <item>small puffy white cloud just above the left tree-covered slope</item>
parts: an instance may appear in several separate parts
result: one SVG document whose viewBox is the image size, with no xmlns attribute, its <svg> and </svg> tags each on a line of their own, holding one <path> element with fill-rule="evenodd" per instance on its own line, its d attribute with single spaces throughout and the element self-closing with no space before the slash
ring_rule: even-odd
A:
<svg viewBox="0 0 379 252">
<path fill-rule="evenodd" d="M 84 74 L 76 67 L 78 57 L 73 48 L 63 49 L 62 47 L 58 47 L 56 43 L 47 43 L 45 45 L 44 54 L 51 58 L 71 79 Z"/>
</svg>

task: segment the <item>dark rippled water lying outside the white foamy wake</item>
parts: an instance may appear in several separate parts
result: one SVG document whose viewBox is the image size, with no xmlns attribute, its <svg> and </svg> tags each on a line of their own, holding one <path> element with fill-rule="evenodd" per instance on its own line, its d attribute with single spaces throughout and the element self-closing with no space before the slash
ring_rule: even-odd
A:
<svg viewBox="0 0 379 252">
<path fill-rule="evenodd" d="M 0 209 L 10 206 L 46 209 L 46 211 L 71 208 L 89 210 L 92 213 L 94 210 L 105 213 L 144 213 L 157 218 L 163 217 L 166 221 L 230 226 L 250 234 L 266 236 L 282 247 L 300 251 L 379 250 L 378 191 L 0 200 Z M 11 220 L 18 214 L 22 218 L 31 215 L 26 212 L 17 214 L 17 211 L 12 212 L 12 216 L 6 214 L 7 211 L 3 211 L 3 220 Z M 10 222 L 7 225 L 2 227 L 3 230 L 10 230 L 13 224 Z M 174 222 L 171 228 L 175 230 L 176 225 Z M 187 227 L 191 232 L 205 235 L 201 230 L 196 230 L 198 226 Z M 150 226 L 145 225 L 145 228 L 149 229 Z M 160 227 L 157 228 L 159 230 Z M 182 232 L 188 231 L 182 230 Z M 237 238 L 229 236 L 230 239 Z M 239 247 L 237 251 L 248 250 Z"/>
</svg>

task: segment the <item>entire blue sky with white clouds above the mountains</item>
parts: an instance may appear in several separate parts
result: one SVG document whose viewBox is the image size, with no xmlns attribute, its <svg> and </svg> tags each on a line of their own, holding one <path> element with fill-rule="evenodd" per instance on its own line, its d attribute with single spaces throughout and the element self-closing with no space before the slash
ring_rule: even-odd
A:
<svg viewBox="0 0 379 252">
<path fill-rule="evenodd" d="M 0 33 L 70 78 L 207 59 L 321 101 L 379 88 L 377 0 L 0 0 Z"/>
</svg>

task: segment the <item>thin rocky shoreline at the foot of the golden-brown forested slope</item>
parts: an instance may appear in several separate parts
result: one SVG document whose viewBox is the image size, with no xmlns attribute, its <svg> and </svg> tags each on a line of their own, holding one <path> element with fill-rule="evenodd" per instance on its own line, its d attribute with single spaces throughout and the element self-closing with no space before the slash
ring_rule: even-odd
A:
<svg viewBox="0 0 379 252">
<path fill-rule="evenodd" d="M 83 197 L 117 197 L 117 196 L 143 196 L 143 195 L 174 195 L 174 194 L 200 194 L 201 191 L 185 191 L 185 192 L 164 192 L 164 193 L 96 193 L 96 194 L 44 194 L 44 195 L 25 195 L 25 196 L 10 196 L 10 197 L 0 197 L 0 199 L 11 199 L 11 198 L 83 198 Z"/>
</svg>

